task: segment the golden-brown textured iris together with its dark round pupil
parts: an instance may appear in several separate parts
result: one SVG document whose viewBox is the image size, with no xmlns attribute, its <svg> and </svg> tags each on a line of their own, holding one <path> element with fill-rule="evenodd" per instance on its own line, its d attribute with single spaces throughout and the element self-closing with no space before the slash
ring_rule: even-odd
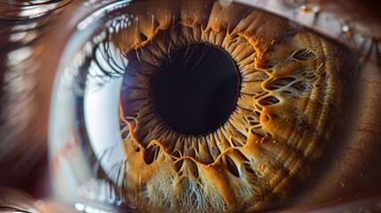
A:
<svg viewBox="0 0 381 213">
<path fill-rule="evenodd" d="M 271 207 L 313 175 L 341 107 L 345 52 L 231 4 L 153 5 L 113 36 L 125 196 L 144 211 Z"/>
</svg>

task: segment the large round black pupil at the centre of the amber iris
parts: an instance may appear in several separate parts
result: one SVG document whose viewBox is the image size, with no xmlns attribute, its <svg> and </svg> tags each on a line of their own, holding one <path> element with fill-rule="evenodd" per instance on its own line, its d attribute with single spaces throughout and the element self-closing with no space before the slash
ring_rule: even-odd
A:
<svg viewBox="0 0 381 213">
<path fill-rule="evenodd" d="M 234 109 L 240 79 L 233 59 L 208 44 L 171 54 L 155 81 L 155 106 L 173 130 L 202 135 L 216 130 Z"/>
</svg>

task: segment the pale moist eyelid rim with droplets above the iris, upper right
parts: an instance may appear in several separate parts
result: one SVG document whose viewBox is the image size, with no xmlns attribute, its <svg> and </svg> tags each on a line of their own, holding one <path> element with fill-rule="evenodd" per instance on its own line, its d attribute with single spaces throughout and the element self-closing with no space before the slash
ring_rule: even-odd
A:
<svg viewBox="0 0 381 213">
<path fill-rule="evenodd" d="M 363 20 L 366 20 L 365 18 L 363 20 L 351 19 L 349 21 L 348 16 L 353 12 L 340 6 L 342 4 L 337 4 L 336 1 L 332 3 L 324 2 L 324 4 L 316 0 L 234 0 L 234 2 L 254 6 L 290 21 L 295 21 L 306 28 L 311 28 L 322 36 L 344 44 L 363 57 L 369 56 L 372 45 L 379 43 L 378 40 L 381 37 L 381 28 L 378 28 L 380 26 L 379 20 L 373 20 L 375 23 L 367 24 L 367 26 L 364 26 L 365 21 Z M 350 3 L 345 2 L 345 4 Z M 369 21 L 370 16 L 367 16 L 367 18 Z M 377 54 L 372 56 L 377 57 Z"/>
</svg>

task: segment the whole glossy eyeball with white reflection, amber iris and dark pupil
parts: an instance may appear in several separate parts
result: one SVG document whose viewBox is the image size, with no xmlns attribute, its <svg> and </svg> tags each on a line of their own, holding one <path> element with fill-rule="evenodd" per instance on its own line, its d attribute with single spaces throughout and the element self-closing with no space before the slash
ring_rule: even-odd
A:
<svg viewBox="0 0 381 213">
<path fill-rule="evenodd" d="M 379 59 L 367 54 L 377 41 L 355 40 L 346 25 L 339 38 L 363 41 L 366 51 L 348 48 L 329 32 L 262 12 L 279 8 L 276 1 L 200 3 L 83 3 L 94 8 L 61 36 L 68 47 L 52 95 L 55 196 L 88 212 L 219 212 L 368 193 L 363 181 L 377 170 L 361 166 L 377 167 L 379 121 L 363 114 L 377 114 Z M 290 3 L 282 5 L 316 13 Z M 362 154 L 365 146 L 373 149 Z"/>
</svg>

